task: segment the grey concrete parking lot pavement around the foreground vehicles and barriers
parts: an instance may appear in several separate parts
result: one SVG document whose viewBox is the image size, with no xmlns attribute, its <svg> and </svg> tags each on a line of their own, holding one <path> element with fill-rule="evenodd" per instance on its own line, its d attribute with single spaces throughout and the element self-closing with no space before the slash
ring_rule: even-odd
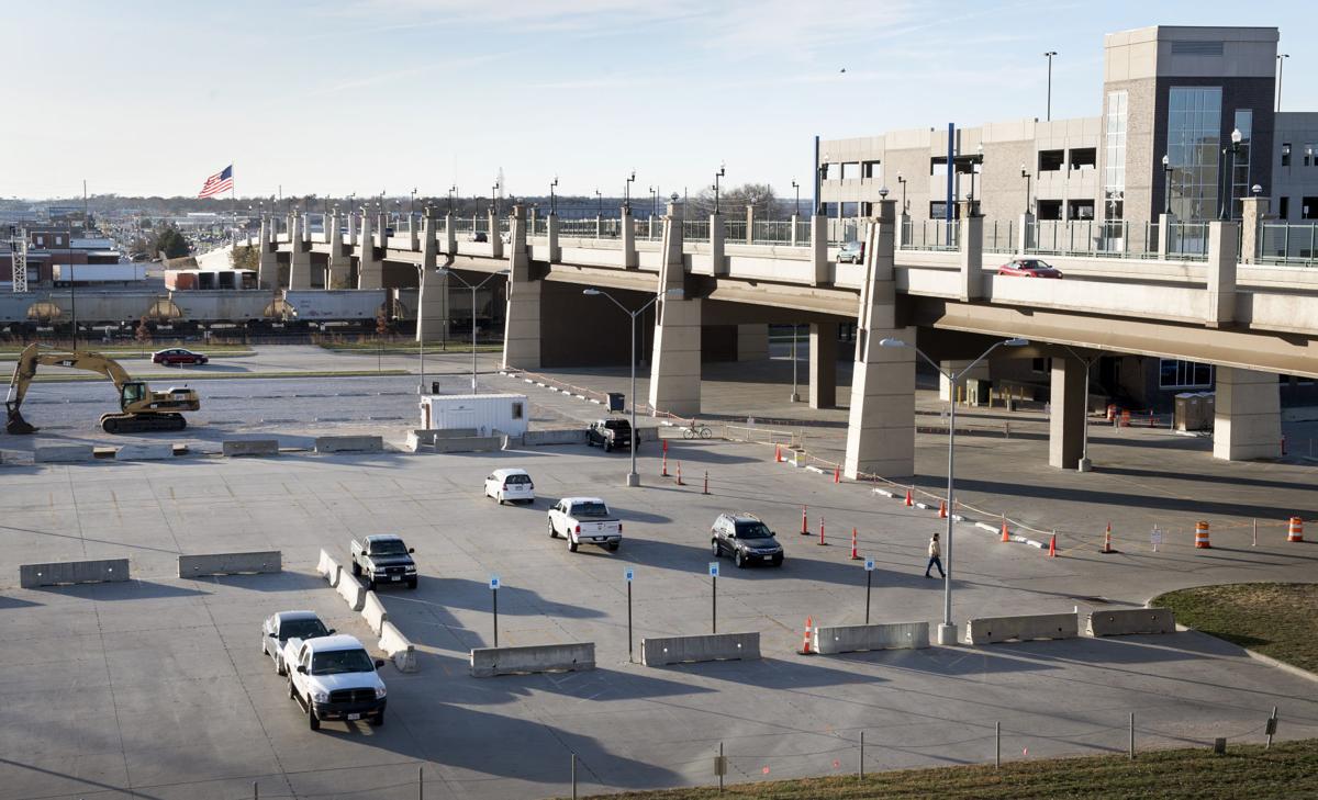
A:
<svg viewBox="0 0 1318 800">
<path fill-rule="evenodd" d="M 1313 683 L 1195 634 L 1081 638 L 990 647 L 800 657 L 805 616 L 859 622 L 865 572 L 850 529 L 878 561 L 875 621 L 937 621 L 941 582 L 923 578 L 929 512 L 867 487 L 766 461 L 764 450 L 675 442 L 687 487 L 641 462 L 646 488 L 621 488 L 626 457 L 580 447 L 478 455 L 380 454 L 261 461 L 5 466 L 0 495 L 0 799 L 18 797 L 534 797 L 713 782 L 720 743 L 734 780 L 847 772 L 866 732 L 870 770 L 1122 750 L 1128 713 L 1140 746 L 1257 741 L 1281 707 L 1281 734 L 1318 733 Z M 531 471 L 540 500 L 481 497 L 496 466 Z M 701 495 L 704 470 L 710 495 Z M 598 493 L 626 524 L 622 549 L 568 553 L 546 532 L 547 499 Z M 800 504 L 809 505 L 803 537 Z M 764 659 L 646 668 L 627 658 L 623 568 L 634 639 L 710 625 L 708 528 L 726 509 L 764 517 L 787 549 L 779 570 L 718 580 L 718 629 L 758 630 Z M 828 546 L 818 546 L 825 518 Z M 398 533 L 416 549 L 414 592 L 381 593 L 420 651 L 420 670 L 385 668 L 386 726 L 320 733 L 258 650 L 266 614 L 311 608 L 362 638 L 364 622 L 315 576 L 319 549 L 347 558 L 353 536 Z M 187 580 L 179 553 L 278 549 L 281 575 Z M 17 588 L 17 564 L 128 557 L 121 584 Z M 1049 559 L 958 526 L 954 617 L 1139 604 L 1166 588 L 1305 579 L 1307 546 L 1078 554 Z M 963 567 L 963 568 L 962 568 Z M 588 672 L 473 679 L 467 650 L 594 641 Z"/>
</svg>

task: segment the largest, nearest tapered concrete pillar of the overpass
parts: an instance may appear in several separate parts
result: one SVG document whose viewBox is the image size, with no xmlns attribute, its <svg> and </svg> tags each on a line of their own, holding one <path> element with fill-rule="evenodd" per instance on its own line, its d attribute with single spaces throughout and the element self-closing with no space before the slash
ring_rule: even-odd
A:
<svg viewBox="0 0 1318 800">
<path fill-rule="evenodd" d="M 844 471 L 902 478 L 915 474 L 915 328 L 896 326 L 896 201 L 880 200 L 866 233 L 857 314 L 855 368 Z M 905 347 L 884 347 L 896 338 Z"/>
</svg>

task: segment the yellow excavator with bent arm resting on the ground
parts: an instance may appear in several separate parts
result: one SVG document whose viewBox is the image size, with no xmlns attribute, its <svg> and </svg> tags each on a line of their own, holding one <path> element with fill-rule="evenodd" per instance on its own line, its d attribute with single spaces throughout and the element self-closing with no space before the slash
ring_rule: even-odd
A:
<svg viewBox="0 0 1318 800">
<path fill-rule="evenodd" d="M 119 389 L 119 413 L 100 416 L 100 426 L 105 433 L 140 433 L 145 430 L 183 430 L 187 420 L 181 412 L 198 411 L 202 400 L 194 389 L 171 387 L 165 392 L 152 391 L 145 382 L 133 380 L 124 367 L 112 358 L 90 350 L 54 350 L 38 345 L 28 345 L 18 354 L 18 366 L 13 368 L 9 380 L 9 395 L 5 409 L 9 418 L 5 432 L 13 434 L 36 433 L 38 428 L 22 418 L 20 409 L 28 387 L 37 375 L 37 366 L 70 367 L 100 372 L 115 382 Z"/>
</svg>

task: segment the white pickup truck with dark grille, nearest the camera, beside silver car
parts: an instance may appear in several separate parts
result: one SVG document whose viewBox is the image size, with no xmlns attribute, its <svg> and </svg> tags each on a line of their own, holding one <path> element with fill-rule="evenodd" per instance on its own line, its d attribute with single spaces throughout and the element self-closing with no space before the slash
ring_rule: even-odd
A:
<svg viewBox="0 0 1318 800">
<path fill-rule="evenodd" d="M 283 662 L 290 664 L 289 697 L 306 709 L 311 730 L 319 730 L 322 720 L 385 724 L 387 689 L 376 671 L 385 662 L 372 659 L 356 638 L 294 637 L 283 646 Z"/>
</svg>

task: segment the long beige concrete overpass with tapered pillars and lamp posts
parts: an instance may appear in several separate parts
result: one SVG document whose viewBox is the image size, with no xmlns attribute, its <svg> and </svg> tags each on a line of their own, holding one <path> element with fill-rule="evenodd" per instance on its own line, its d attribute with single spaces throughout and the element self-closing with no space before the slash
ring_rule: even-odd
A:
<svg viewBox="0 0 1318 800">
<path fill-rule="evenodd" d="M 750 339 L 735 350 L 762 351 L 751 330 L 762 337 L 764 322 L 809 322 L 811 403 L 832 405 L 837 325 L 855 322 L 849 476 L 913 472 L 916 354 L 879 347 L 886 337 L 919 342 L 934 358 L 953 362 L 977 357 L 995 339 L 1031 339 L 1012 355 L 1053 359 L 1050 462 L 1058 467 L 1079 459 L 1083 359 L 1098 353 L 1215 364 L 1214 454 L 1280 454 L 1276 374 L 1318 376 L 1318 272 L 1242 264 L 1240 225 L 1213 222 L 1206 258 L 1058 257 L 1049 261 L 1065 280 L 998 276 L 995 267 L 1006 257 L 985 254 L 981 218 L 962 216 L 956 250 L 908 250 L 896 245 L 894 207 L 879 204 L 863 263 L 837 262 L 822 217 L 809 221 L 809 241 L 801 243 L 731 242 L 722 216 L 712 216 L 708 229 L 697 230 L 700 241 L 689 241 L 691 222 L 683 224 L 677 205 L 668 207 L 662 225 L 650 226 L 638 226 L 623 211 L 613 237 L 563 236 L 558 217 L 535 218 L 514 207 L 506 220 L 492 213 L 469 228 L 427 209 L 420 225 L 409 220 L 401 236 L 385 236 L 382 217 L 351 214 L 347 234 L 312 237 L 306 218 L 293 216 L 283 233 L 277 221 L 264 222 L 252 243 L 260 246 L 261 282 L 272 287 L 285 280 L 290 288 L 316 280 L 327 287 L 415 286 L 422 275 L 418 336 L 424 337 L 438 336 L 445 316 L 444 292 L 427 291 L 442 257 L 459 271 L 507 270 L 503 363 L 515 368 L 626 361 L 626 320 L 606 301 L 583 297 L 584 287 L 617 291 L 633 307 L 658 291 L 681 288 L 683 299 L 660 300 L 642 339 L 652 353 L 648 408 L 677 416 L 700 412 L 702 334 L 708 339 L 710 332 L 733 330 L 734 339 Z M 478 222 L 488 241 L 459 236 Z M 597 232 L 601 225 L 596 222 Z M 340 217 L 331 214 L 326 229 L 341 230 Z M 793 222 L 793 239 L 796 232 Z"/>
</svg>

